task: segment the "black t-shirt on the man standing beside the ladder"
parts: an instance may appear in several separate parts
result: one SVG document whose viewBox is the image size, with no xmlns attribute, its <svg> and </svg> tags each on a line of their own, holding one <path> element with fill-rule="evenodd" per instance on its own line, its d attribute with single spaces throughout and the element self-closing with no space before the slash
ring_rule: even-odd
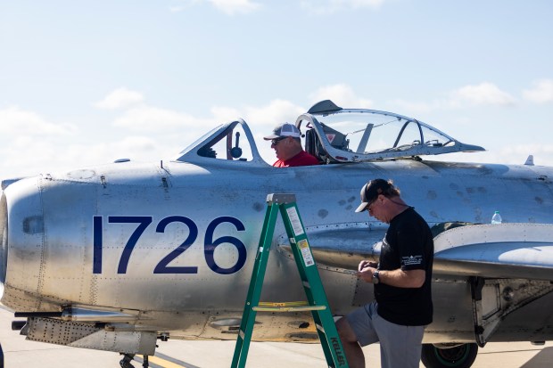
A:
<svg viewBox="0 0 553 368">
<path fill-rule="evenodd" d="M 425 283 L 420 288 L 396 288 L 384 283 L 375 285 L 378 315 L 404 326 L 432 322 L 433 237 L 430 228 L 415 209 L 409 208 L 393 217 L 380 251 L 380 270 L 423 269 Z"/>
</svg>

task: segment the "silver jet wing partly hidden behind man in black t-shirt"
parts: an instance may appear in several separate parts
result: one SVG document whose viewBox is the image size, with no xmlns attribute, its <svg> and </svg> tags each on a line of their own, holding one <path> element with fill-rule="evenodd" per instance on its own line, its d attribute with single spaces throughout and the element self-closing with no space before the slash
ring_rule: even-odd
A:
<svg viewBox="0 0 553 368">
<path fill-rule="evenodd" d="M 361 259 L 378 260 L 386 227 L 337 224 L 306 231 L 319 266 L 351 272 Z M 285 236 L 278 244 L 291 255 Z M 434 238 L 433 274 L 553 281 L 553 225 L 466 225 L 447 230 Z"/>
</svg>

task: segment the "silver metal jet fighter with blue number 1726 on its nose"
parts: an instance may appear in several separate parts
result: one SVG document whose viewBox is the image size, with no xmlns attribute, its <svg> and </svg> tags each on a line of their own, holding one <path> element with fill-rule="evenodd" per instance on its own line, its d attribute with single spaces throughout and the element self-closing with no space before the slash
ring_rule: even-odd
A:
<svg viewBox="0 0 553 368">
<path fill-rule="evenodd" d="M 13 327 L 124 353 L 124 367 L 152 356 L 157 339 L 235 339 L 268 193 L 295 194 L 330 307 L 346 315 L 373 299 L 352 271 L 377 260 L 387 225 L 354 209 L 362 185 L 382 177 L 435 234 L 425 366 L 469 367 L 488 341 L 553 339 L 553 168 L 421 159 L 483 148 L 330 101 L 296 126 L 321 165 L 271 167 L 238 119 L 175 159 L 4 180 L 1 302 L 26 318 Z M 503 223 L 491 225 L 496 210 Z M 281 220 L 261 300 L 305 300 Z M 309 312 L 260 312 L 253 331 L 253 340 L 318 340 Z"/>
</svg>

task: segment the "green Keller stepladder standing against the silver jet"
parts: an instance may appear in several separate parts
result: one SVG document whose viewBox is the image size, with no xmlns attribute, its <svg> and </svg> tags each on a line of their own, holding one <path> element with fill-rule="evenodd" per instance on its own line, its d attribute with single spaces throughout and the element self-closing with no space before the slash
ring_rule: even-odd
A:
<svg viewBox="0 0 553 368">
<path fill-rule="evenodd" d="M 236 339 L 235 355 L 231 368 L 243 368 L 246 364 L 248 349 L 252 340 L 253 324 L 258 311 L 262 312 L 296 312 L 310 311 L 317 327 L 318 339 L 321 342 L 330 368 L 349 368 L 343 351 L 342 341 L 338 336 L 334 317 L 328 307 L 325 289 L 318 274 L 315 259 L 311 253 L 310 243 L 301 222 L 300 212 L 294 194 L 268 194 L 267 210 L 261 230 L 260 244 L 253 264 L 252 281 L 243 307 L 242 322 Z M 265 278 L 269 250 L 275 233 L 278 210 L 285 223 L 286 234 L 293 249 L 293 258 L 300 272 L 303 290 L 307 302 L 260 302 L 261 288 Z"/>
</svg>

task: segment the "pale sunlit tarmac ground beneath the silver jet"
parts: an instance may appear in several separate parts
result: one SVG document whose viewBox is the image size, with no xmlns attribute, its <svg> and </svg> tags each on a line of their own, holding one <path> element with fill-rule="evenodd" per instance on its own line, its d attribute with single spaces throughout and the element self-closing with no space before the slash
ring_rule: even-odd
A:
<svg viewBox="0 0 553 368">
<path fill-rule="evenodd" d="M 13 315 L 0 309 L 0 343 L 4 350 L 5 368 L 118 368 L 117 353 L 68 348 L 53 344 L 26 341 L 19 331 L 12 331 Z M 159 341 L 155 356 L 149 357 L 152 368 L 220 368 L 230 367 L 235 341 Z M 378 345 L 363 349 L 367 367 L 380 366 Z M 136 368 L 142 367 L 142 357 L 136 356 Z M 553 341 L 542 346 L 530 342 L 488 343 L 480 348 L 473 368 L 551 368 Z M 1 367 L 1 366 L 0 366 Z M 326 367 L 319 344 L 285 342 L 252 342 L 246 367 Z M 424 365 L 420 364 L 423 368 Z"/>
</svg>

